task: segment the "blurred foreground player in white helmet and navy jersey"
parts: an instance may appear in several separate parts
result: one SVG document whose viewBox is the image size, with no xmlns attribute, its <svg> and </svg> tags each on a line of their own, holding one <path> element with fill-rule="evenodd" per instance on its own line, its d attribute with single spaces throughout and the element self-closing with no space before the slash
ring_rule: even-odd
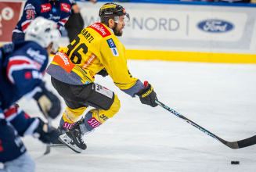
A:
<svg viewBox="0 0 256 172">
<path fill-rule="evenodd" d="M 0 48 L 0 162 L 4 163 L 0 171 L 5 172 L 34 171 L 34 161 L 20 136 L 33 135 L 45 143 L 59 137 L 58 131 L 15 105 L 23 96 L 33 98 L 46 117 L 59 115 L 59 99 L 41 81 L 49 53 L 58 48 L 56 23 L 38 17 L 27 27 L 25 40 Z"/>
</svg>

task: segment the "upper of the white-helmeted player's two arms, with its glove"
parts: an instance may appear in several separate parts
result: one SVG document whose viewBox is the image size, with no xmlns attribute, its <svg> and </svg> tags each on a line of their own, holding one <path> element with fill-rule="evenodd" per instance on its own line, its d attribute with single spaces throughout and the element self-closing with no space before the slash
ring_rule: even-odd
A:
<svg viewBox="0 0 256 172">
<path fill-rule="evenodd" d="M 47 55 L 41 63 L 35 63 L 29 56 L 13 56 L 9 58 L 6 71 L 9 81 L 16 85 L 20 95 L 25 95 L 27 100 L 34 98 L 45 115 L 55 118 L 60 111 L 59 99 L 41 81 L 47 63 Z"/>
</svg>

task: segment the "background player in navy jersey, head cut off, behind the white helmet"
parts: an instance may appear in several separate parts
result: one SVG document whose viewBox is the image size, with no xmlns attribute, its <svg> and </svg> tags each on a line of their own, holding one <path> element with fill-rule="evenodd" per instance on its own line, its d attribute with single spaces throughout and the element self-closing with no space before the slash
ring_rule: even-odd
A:
<svg viewBox="0 0 256 172">
<path fill-rule="evenodd" d="M 24 40 L 27 27 L 38 16 L 52 20 L 57 23 L 58 29 L 65 25 L 70 13 L 71 5 L 74 0 L 27 0 L 23 9 L 23 16 L 13 30 L 12 41 Z M 60 34 L 60 31 L 59 31 Z"/>
</svg>

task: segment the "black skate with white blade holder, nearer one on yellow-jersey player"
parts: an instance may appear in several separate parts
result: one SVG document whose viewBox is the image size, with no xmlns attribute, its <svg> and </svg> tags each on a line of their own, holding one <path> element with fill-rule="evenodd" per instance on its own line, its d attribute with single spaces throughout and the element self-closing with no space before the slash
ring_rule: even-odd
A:
<svg viewBox="0 0 256 172">
<path fill-rule="evenodd" d="M 66 131 L 66 134 L 59 136 L 59 141 L 63 142 L 63 144 L 67 145 L 70 149 L 74 150 L 74 152 L 81 153 L 87 148 L 82 133 L 82 128 L 84 127 L 84 119 L 81 118 L 81 120 L 78 120 L 76 124 Z"/>
</svg>

